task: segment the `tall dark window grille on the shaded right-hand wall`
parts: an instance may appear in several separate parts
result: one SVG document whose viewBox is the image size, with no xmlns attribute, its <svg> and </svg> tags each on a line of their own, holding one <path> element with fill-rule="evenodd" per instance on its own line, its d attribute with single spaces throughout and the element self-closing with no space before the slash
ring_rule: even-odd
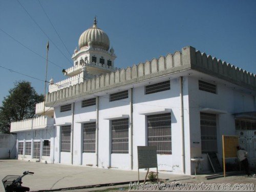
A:
<svg viewBox="0 0 256 192">
<path fill-rule="evenodd" d="M 202 153 L 218 152 L 217 118 L 215 114 L 200 113 Z"/>
</svg>

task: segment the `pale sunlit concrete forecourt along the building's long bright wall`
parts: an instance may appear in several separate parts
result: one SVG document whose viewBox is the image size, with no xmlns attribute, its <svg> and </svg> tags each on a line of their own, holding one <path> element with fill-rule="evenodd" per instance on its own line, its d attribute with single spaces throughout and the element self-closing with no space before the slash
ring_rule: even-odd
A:
<svg viewBox="0 0 256 192">
<path fill-rule="evenodd" d="M 25 170 L 34 172 L 33 176 L 28 175 L 23 178 L 23 185 L 30 187 L 31 191 L 138 180 L 136 171 L 44 164 L 22 160 L 0 160 L 0 170 L 1 180 L 7 175 L 22 175 Z M 145 172 L 140 172 L 140 179 L 144 178 Z M 183 180 L 191 177 L 160 173 L 159 178 Z M 0 185 L 0 191 L 4 191 L 3 184 Z"/>
</svg>

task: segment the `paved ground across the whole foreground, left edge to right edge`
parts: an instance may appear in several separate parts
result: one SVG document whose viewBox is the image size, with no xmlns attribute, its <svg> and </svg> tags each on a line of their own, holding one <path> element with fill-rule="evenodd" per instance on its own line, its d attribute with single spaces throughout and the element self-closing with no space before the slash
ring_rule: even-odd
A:
<svg viewBox="0 0 256 192">
<path fill-rule="evenodd" d="M 136 181 L 138 178 L 138 172 L 136 171 L 102 169 L 60 164 L 43 164 L 20 160 L 0 160 L 0 170 L 1 180 L 7 175 L 20 175 L 25 170 L 30 170 L 31 172 L 34 172 L 34 176 L 26 176 L 23 179 L 24 186 L 30 187 L 31 191 L 128 182 Z M 254 190 L 256 189 L 256 178 L 248 178 L 245 175 L 229 176 L 226 178 L 222 177 L 212 180 L 206 180 L 206 176 L 207 175 L 199 175 L 195 177 L 173 174 L 159 174 L 159 178 L 166 179 L 166 183 L 173 181 L 179 181 L 181 183 L 253 183 Z M 140 178 L 144 179 L 144 177 L 145 173 L 140 172 Z M 127 186 L 128 185 L 119 185 L 100 188 L 73 189 L 69 191 L 84 192 L 106 189 L 105 191 L 124 192 L 128 191 Z M 2 184 L 0 185 L 0 191 L 4 191 L 4 187 Z"/>
</svg>

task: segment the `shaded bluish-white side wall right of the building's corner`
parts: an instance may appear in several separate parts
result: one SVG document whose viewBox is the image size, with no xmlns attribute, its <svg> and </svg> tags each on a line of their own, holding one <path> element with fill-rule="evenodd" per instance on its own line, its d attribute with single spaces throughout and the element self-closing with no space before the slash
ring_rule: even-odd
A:
<svg viewBox="0 0 256 192">
<path fill-rule="evenodd" d="M 217 94 L 199 90 L 198 80 L 217 84 Z M 211 79 L 211 80 L 209 80 Z M 203 157 L 202 172 L 211 171 L 207 156 L 201 153 L 201 128 L 200 128 L 200 110 L 203 108 L 212 108 L 226 111 L 225 114 L 217 115 L 217 142 L 218 158 L 222 164 L 222 135 L 236 135 L 234 126 L 234 113 L 255 111 L 253 96 L 245 92 L 233 89 L 218 79 L 214 82 L 212 77 L 188 77 L 189 93 L 189 116 L 190 116 L 190 138 L 191 138 L 191 158 Z M 200 142 L 199 144 L 193 142 Z M 194 164 L 191 164 L 191 173 L 194 174 Z"/>
</svg>

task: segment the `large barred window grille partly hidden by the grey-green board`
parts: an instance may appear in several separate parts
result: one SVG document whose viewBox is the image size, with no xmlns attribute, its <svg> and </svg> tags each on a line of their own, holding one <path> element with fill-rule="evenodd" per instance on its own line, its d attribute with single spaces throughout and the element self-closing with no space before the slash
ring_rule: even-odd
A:
<svg viewBox="0 0 256 192">
<path fill-rule="evenodd" d="M 172 154 L 170 113 L 147 116 L 148 146 L 157 146 L 157 154 Z"/>
</svg>

